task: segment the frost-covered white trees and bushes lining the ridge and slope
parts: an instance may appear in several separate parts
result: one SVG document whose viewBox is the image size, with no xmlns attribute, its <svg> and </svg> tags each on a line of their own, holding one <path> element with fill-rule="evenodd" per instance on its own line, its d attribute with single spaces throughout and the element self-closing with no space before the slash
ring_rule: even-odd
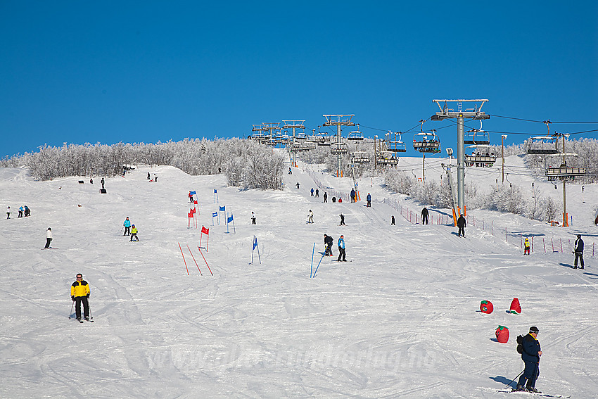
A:
<svg viewBox="0 0 598 399">
<path fill-rule="evenodd" d="M 526 154 L 528 143 L 504 146 L 504 156 L 521 156 L 526 165 L 525 173 L 542 177 L 545 167 L 558 166 L 561 156 L 537 156 Z M 365 139 L 361 143 L 349 142 L 351 153 L 360 151 L 364 158 L 374 159 L 374 141 Z M 566 140 L 568 165 L 586 167 L 588 174 L 576 179 L 578 183 L 598 181 L 598 140 Z M 490 153 L 502 154 L 501 146 L 490 146 Z M 287 154 L 287 157 L 290 156 Z M 325 170 L 336 170 L 336 156 L 330 147 L 316 146 L 312 151 L 297 153 L 297 158 L 307 164 L 324 164 Z M 44 145 L 39 151 L 13 156 L 0 162 L 2 167 L 25 166 L 34 179 L 51 180 L 70 176 L 115 176 L 122 172 L 123 165 L 171 165 L 189 175 L 214 175 L 224 172 L 230 186 L 241 189 L 282 189 L 284 162 L 280 151 L 258 144 L 250 139 L 184 139 L 156 144 L 64 144 L 62 147 Z M 401 163 L 396 167 L 377 170 L 371 164 L 352 165 L 349 156 L 342 158 L 343 170 L 348 177 L 370 177 L 383 175 L 386 186 L 400 194 L 406 194 L 422 203 L 450 208 L 450 189 L 442 179 L 427 179 L 424 184 L 412 170 Z M 478 187 L 476 182 L 466 185 L 466 197 L 470 209 L 500 210 L 524 215 L 530 219 L 553 220 L 562 208 L 562 203 L 550 196 L 544 196 L 537 189 L 531 198 L 524 198 L 517 185 L 496 186 L 488 190 Z"/>
</svg>

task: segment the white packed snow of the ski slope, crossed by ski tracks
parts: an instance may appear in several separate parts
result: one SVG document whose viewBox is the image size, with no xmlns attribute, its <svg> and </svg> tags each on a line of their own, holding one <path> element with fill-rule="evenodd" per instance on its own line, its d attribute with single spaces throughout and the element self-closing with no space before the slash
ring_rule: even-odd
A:
<svg viewBox="0 0 598 399">
<path fill-rule="evenodd" d="M 468 179 L 486 179 L 481 186 L 498 177 L 496 168 L 469 170 Z M 442 173 L 435 165 L 426 177 Z M 533 181 L 525 179 L 509 176 Z M 0 229 L 1 398 L 509 398 L 497 390 L 523 370 L 515 338 L 530 326 L 544 353 L 536 387 L 598 396 L 596 185 L 585 186 L 585 201 L 571 186 L 573 227 L 471 211 L 511 238 L 566 243 L 562 253 L 544 252 L 537 238 L 524 257 L 469 220 L 466 238 L 457 237 L 451 224 L 436 224 L 446 209 L 428 207 L 433 224 L 408 222 L 382 201 L 414 213 L 426 204 L 388 191 L 381 177 L 360 179 L 358 203 L 323 203 L 324 191 L 348 193 L 352 180 L 310 166 L 285 175 L 282 191 L 240 191 L 224 175 L 167 166 L 106 178 L 108 194 L 99 180 L 35 182 L 26 170 L 0 170 L 1 203 L 13 210 Z M 189 190 L 198 229 L 187 218 Z M 31 217 L 17 218 L 20 205 Z M 122 235 L 127 216 L 139 243 Z M 48 227 L 56 249 L 41 251 Z M 334 257 L 322 258 L 324 233 Z M 341 234 L 350 262 L 333 261 Z M 567 246 L 576 234 L 585 270 L 573 269 Z M 93 324 L 68 318 L 79 272 Z M 521 315 L 507 312 L 513 298 Z M 492 314 L 480 312 L 481 300 L 492 301 Z M 496 341 L 499 325 L 509 328 L 507 344 Z"/>
</svg>

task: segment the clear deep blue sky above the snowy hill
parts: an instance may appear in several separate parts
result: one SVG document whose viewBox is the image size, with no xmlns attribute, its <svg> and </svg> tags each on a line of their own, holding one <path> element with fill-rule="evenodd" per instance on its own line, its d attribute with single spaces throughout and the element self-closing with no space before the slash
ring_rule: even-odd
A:
<svg viewBox="0 0 598 399">
<path fill-rule="evenodd" d="M 0 156 L 44 143 L 246 137 L 281 120 L 311 131 L 322 114 L 355 114 L 369 137 L 411 129 L 409 144 L 438 110 L 432 99 L 598 122 L 597 15 L 595 1 L 0 1 Z M 424 124 L 433 128 L 454 148 L 452 122 Z M 483 129 L 509 132 L 509 143 L 546 132 L 498 116 Z"/>
</svg>

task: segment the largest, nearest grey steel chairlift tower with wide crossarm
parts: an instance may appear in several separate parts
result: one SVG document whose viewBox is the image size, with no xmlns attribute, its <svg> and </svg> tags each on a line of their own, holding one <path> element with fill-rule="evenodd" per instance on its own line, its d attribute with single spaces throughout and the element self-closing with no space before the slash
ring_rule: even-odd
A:
<svg viewBox="0 0 598 399">
<path fill-rule="evenodd" d="M 431 120 L 445 120 L 457 118 L 457 217 L 467 215 L 465 208 L 465 132 L 464 119 L 490 119 L 490 115 L 482 112 L 487 99 L 478 100 L 432 100 L 440 108 L 440 112 L 432 115 Z M 443 103 L 440 105 L 440 103 Z M 448 103 L 457 103 L 457 110 L 448 108 Z M 474 103 L 474 108 L 462 110 L 463 103 Z M 478 107 L 479 104 L 479 107 Z M 457 221 L 455 220 L 455 223 Z"/>
</svg>

